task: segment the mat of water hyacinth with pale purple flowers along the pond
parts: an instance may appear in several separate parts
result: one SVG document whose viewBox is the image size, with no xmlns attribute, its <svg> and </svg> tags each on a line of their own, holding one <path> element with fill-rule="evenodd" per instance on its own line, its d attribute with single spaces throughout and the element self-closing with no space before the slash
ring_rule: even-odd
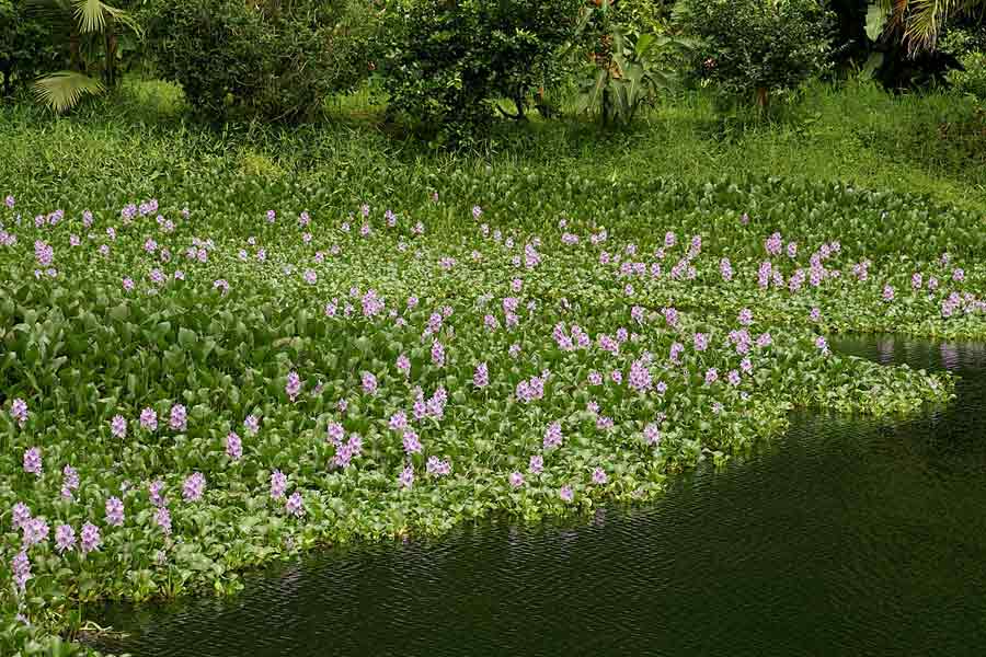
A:
<svg viewBox="0 0 986 657">
<path fill-rule="evenodd" d="M 427 203 L 446 220 L 8 199 L 0 646 L 100 598 L 233 591 L 322 543 L 646 499 L 793 407 L 950 397 L 947 374 L 841 357 L 827 333 L 986 335 L 967 243 L 881 250 L 835 211 L 817 240 L 779 215 L 644 231 L 576 206 L 535 230 Z"/>
</svg>

